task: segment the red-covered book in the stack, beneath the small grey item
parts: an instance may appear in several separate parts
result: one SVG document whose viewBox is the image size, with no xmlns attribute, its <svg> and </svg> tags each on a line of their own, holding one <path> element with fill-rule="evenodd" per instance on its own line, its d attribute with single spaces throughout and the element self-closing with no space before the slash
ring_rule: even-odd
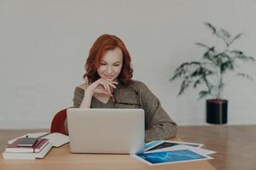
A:
<svg viewBox="0 0 256 170">
<path fill-rule="evenodd" d="M 39 152 L 43 150 L 45 145 L 49 143 L 49 139 L 38 139 L 37 143 L 34 144 L 32 147 L 24 147 L 19 146 L 20 141 L 24 138 L 16 139 L 15 142 L 9 144 L 6 148 L 6 152 Z"/>
</svg>

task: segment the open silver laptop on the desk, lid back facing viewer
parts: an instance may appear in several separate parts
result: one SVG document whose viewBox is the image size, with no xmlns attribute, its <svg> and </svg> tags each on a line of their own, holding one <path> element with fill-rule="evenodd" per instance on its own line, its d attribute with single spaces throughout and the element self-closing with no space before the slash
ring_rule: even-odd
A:
<svg viewBox="0 0 256 170">
<path fill-rule="evenodd" d="M 143 109 L 67 110 L 72 153 L 140 154 L 144 152 Z"/>
</svg>

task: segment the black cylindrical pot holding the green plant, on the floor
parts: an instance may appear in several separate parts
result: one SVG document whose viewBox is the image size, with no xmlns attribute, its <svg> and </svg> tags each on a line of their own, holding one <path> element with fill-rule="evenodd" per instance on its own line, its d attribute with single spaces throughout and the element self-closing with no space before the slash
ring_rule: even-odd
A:
<svg viewBox="0 0 256 170">
<path fill-rule="evenodd" d="M 228 100 L 207 99 L 207 122 L 212 124 L 228 122 Z"/>
</svg>

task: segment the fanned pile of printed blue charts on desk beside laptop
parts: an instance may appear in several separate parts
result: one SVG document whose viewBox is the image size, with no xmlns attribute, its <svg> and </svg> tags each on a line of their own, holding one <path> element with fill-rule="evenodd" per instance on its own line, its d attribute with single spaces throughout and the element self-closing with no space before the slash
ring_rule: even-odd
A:
<svg viewBox="0 0 256 170">
<path fill-rule="evenodd" d="M 149 166 L 185 161 L 202 161 L 212 159 L 212 150 L 201 149 L 203 144 L 156 140 L 146 144 L 145 153 L 132 155 Z"/>
</svg>

